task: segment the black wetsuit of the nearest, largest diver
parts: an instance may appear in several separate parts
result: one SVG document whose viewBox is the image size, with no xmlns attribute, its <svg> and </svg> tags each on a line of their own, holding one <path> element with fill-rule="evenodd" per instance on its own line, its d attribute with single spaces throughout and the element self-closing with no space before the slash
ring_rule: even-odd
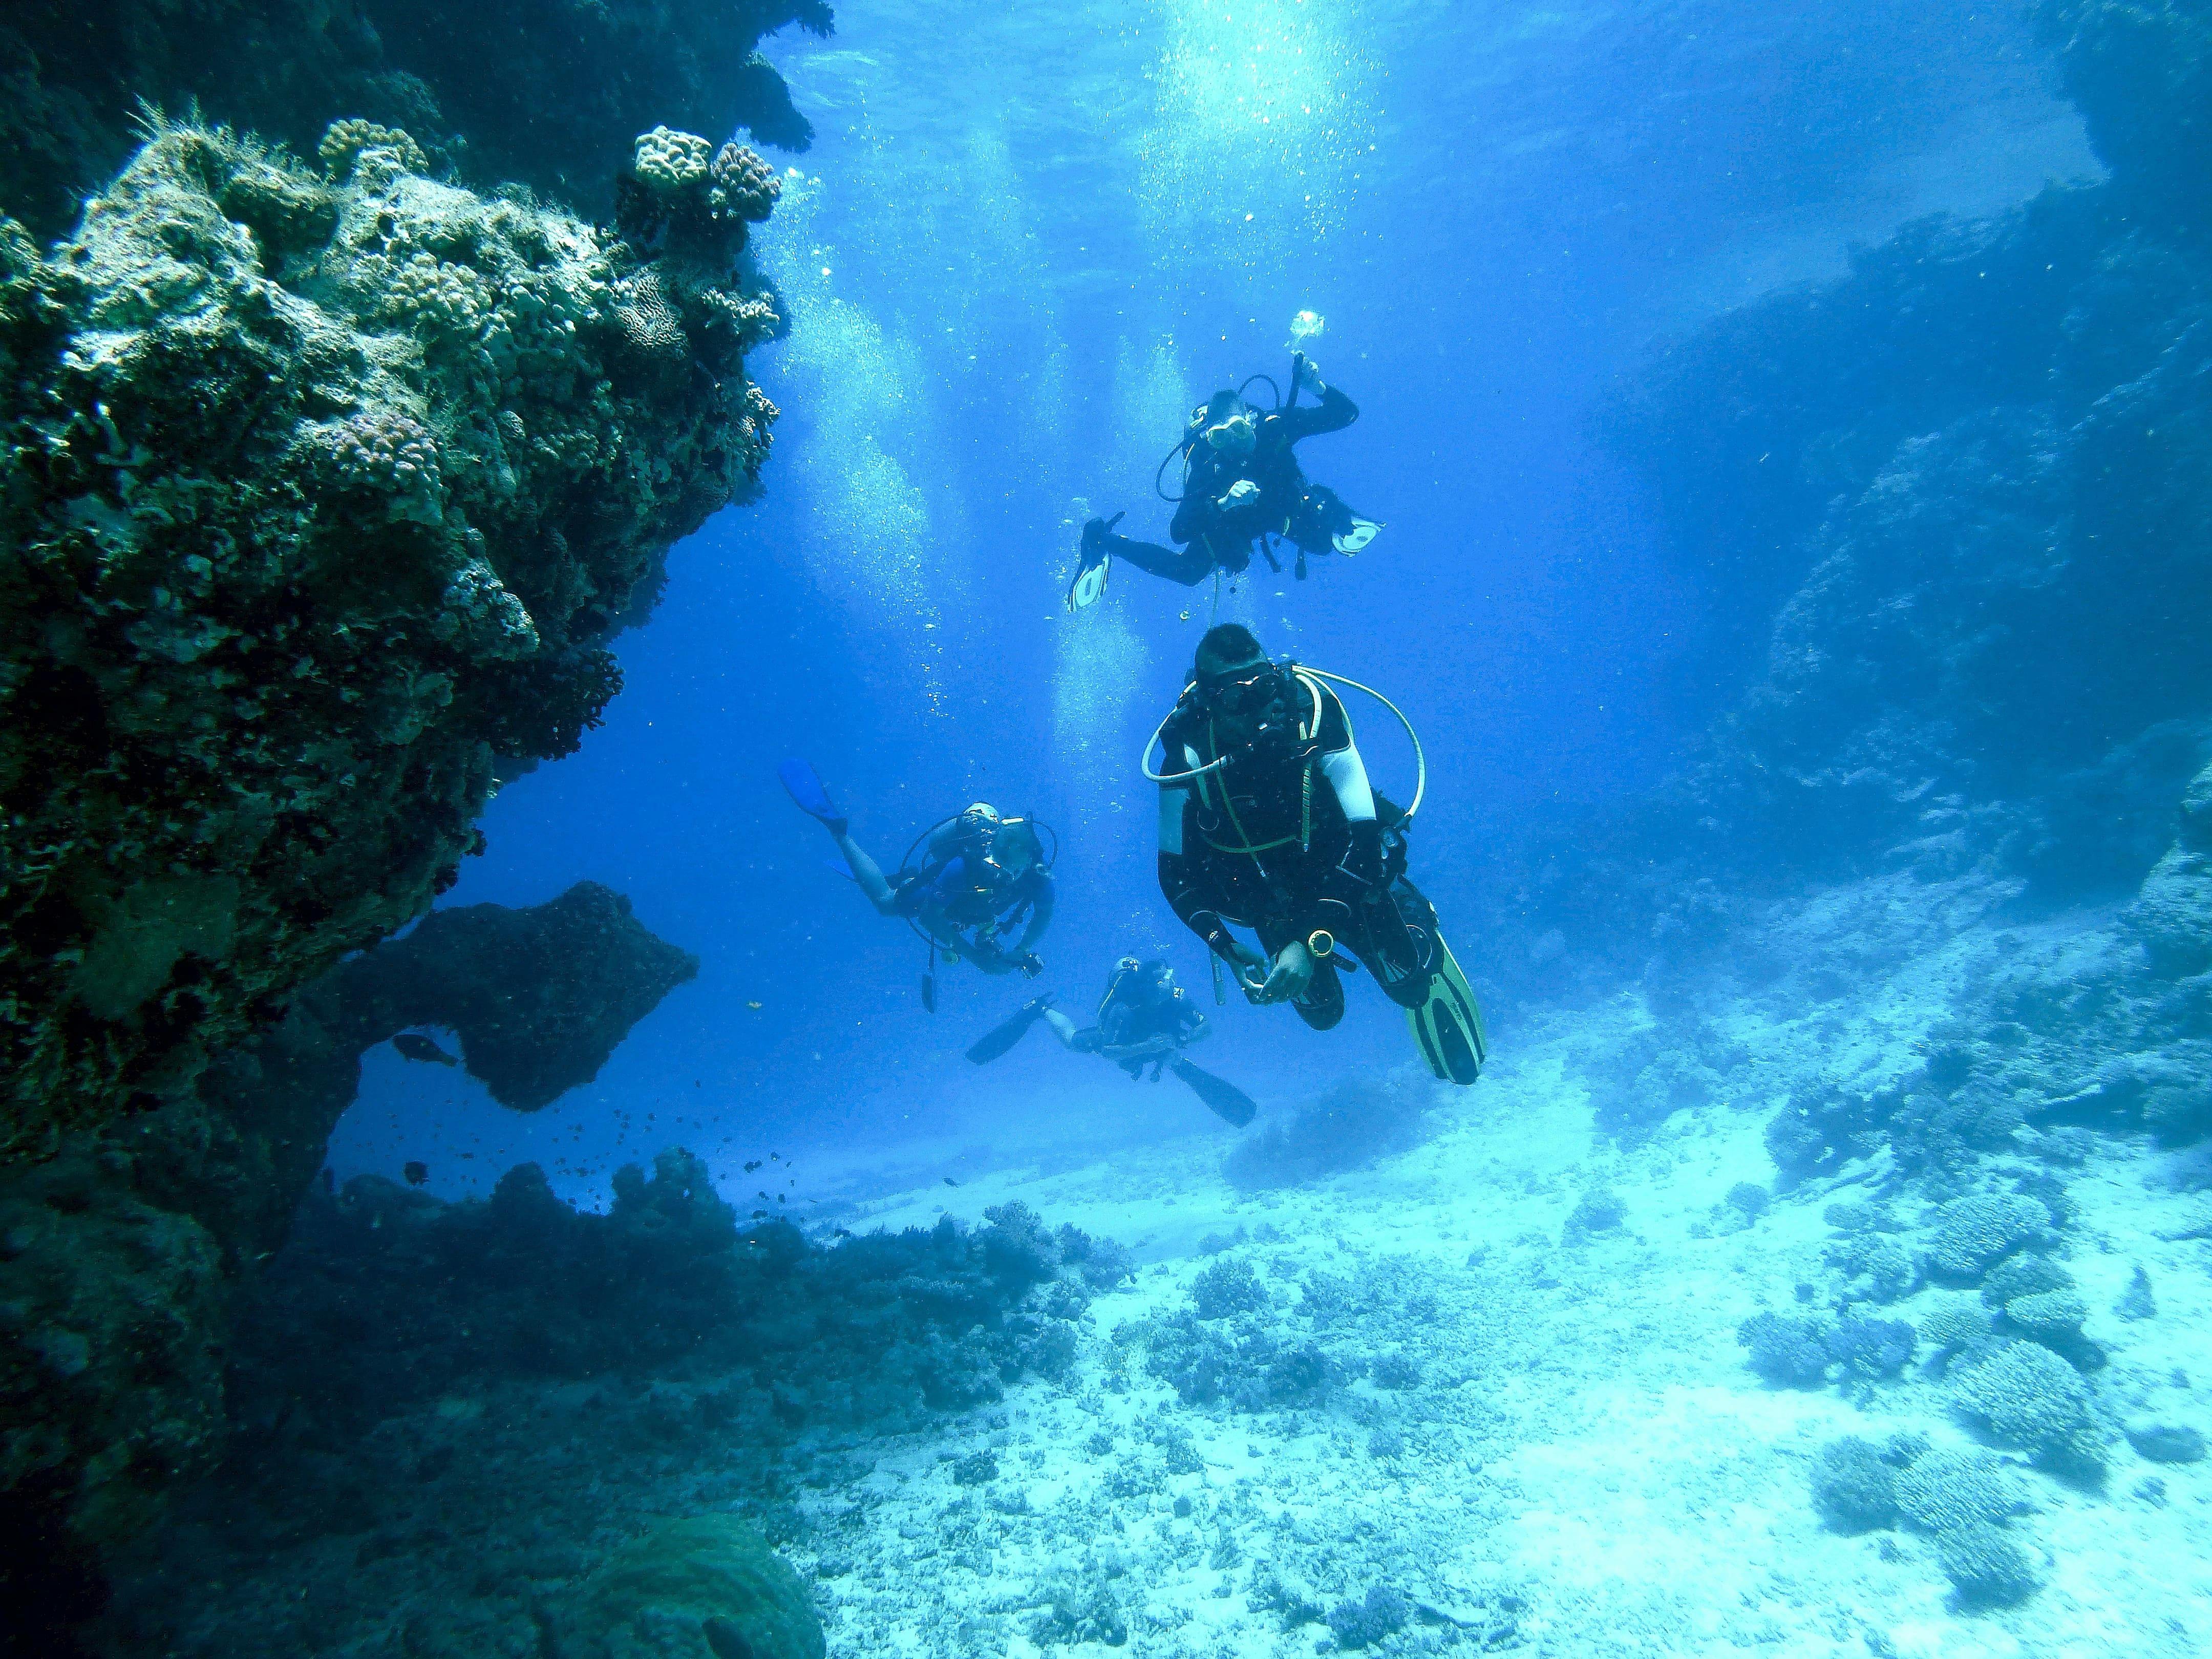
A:
<svg viewBox="0 0 2212 1659">
<path fill-rule="evenodd" d="M 1336 936 L 1402 1006 L 1427 1000 L 1436 907 L 1405 876 L 1400 812 L 1376 796 L 1343 703 L 1298 679 L 1301 734 L 1276 752 L 1239 752 L 1225 768 L 1161 785 L 1159 889 L 1208 949 L 1232 967 L 1228 925 L 1250 927 L 1274 958 L 1316 929 Z M 1318 712 L 1312 706 L 1318 701 Z M 1221 754 L 1212 723 L 1186 703 L 1161 732 L 1164 774 Z M 1298 1015 L 1327 1031 L 1345 991 L 1323 962 Z"/>
</svg>

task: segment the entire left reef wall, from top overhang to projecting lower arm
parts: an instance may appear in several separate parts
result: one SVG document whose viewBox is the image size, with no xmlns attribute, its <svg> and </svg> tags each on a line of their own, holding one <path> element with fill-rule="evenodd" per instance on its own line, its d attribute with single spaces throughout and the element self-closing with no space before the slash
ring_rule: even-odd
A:
<svg viewBox="0 0 2212 1659">
<path fill-rule="evenodd" d="M 95 1553 L 212 1458 L 232 1287 L 283 1241 L 361 1048 L 447 1022 L 531 1110 L 692 971 L 602 889 L 332 969 L 453 883 L 502 776 L 597 723 L 668 546 L 757 491 L 776 409 L 745 354 L 783 325 L 745 241 L 779 184 L 666 122 L 803 148 L 754 51 L 787 22 L 830 9 L 0 18 L 22 1641 L 60 1650 Z"/>
</svg>

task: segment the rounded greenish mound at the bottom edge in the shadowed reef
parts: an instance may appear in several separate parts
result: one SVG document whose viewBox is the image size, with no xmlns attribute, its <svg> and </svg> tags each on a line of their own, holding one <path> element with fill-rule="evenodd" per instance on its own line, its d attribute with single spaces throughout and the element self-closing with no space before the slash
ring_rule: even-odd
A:
<svg viewBox="0 0 2212 1659">
<path fill-rule="evenodd" d="M 624 1544 L 555 1624 L 568 1659 L 823 1659 L 807 1586 L 734 1515 Z"/>
</svg>

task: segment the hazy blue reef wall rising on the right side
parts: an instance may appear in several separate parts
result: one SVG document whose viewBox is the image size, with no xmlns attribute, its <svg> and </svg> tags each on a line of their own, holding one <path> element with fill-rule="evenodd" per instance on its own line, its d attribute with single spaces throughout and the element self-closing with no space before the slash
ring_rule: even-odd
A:
<svg viewBox="0 0 2212 1659">
<path fill-rule="evenodd" d="M 1652 801 L 1502 880 L 1557 929 L 1531 987 L 1717 940 L 1772 872 L 1993 860 L 2070 902 L 2172 843 L 2212 734 L 2212 7 L 2039 18 L 2108 181 L 1909 226 L 1608 414 L 1712 602 L 1692 672 L 1745 690 Z"/>
</svg>

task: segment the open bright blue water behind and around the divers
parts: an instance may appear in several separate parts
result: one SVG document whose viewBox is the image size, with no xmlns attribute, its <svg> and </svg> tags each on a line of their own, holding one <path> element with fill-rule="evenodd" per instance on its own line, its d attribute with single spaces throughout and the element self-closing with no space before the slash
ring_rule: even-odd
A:
<svg viewBox="0 0 2212 1659">
<path fill-rule="evenodd" d="M 1416 874 L 1486 984 L 1484 852 L 1648 787 L 1756 666 L 1593 431 L 1608 394 L 1911 217 L 2097 173 L 2026 24 L 1969 0 L 865 2 L 770 55 L 821 137 L 757 243 L 792 316 L 752 363 L 785 409 L 765 498 L 675 549 L 604 730 L 498 799 L 445 900 L 595 878 L 701 973 L 533 1119 L 376 1051 L 341 1177 L 425 1159 L 462 1194 L 526 1157 L 597 1203 L 668 1141 L 827 1170 L 1188 1133 L 1188 1095 L 1044 1042 L 967 1066 L 1024 991 L 947 969 L 925 1013 L 920 945 L 825 867 L 774 765 L 812 759 L 887 863 L 971 799 L 1042 814 L 1042 984 L 1086 1006 L 1159 951 L 1203 998 L 1137 752 L 1217 615 L 1407 708 L 1433 765 Z M 1363 409 L 1301 456 L 1385 535 L 1303 584 L 1256 566 L 1219 613 L 1121 568 L 1068 615 L 1075 526 L 1161 535 L 1186 409 L 1285 376 L 1301 307 Z M 1402 741 L 1354 719 L 1405 790 Z M 1409 1057 L 1365 982 L 1327 1037 L 1274 1015 L 1223 1009 L 1208 1053 L 1263 1099 Z"/>
</svg>

